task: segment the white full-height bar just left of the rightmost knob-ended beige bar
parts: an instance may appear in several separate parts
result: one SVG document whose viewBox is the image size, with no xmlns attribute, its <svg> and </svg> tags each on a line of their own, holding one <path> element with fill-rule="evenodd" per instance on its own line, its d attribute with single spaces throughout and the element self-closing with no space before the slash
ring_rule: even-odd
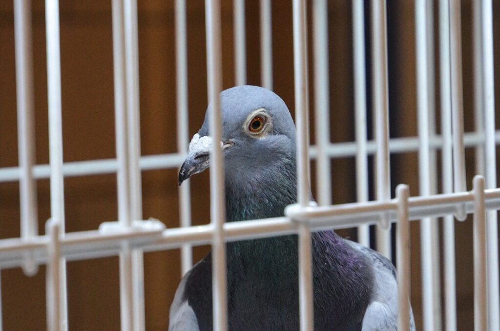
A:
<svg viewBox="0 0 500 331">
<path fill-rule="evenodd" d="M 449 0 L 439 0 L 439 71 L 442 136 L 442 192 L 453 191 L 451 136 L 451 81 L 449 53 Z M 444 318 L 447 331 L 456 330 L 455 225 L 452 215 L 443 219 Z"/>
</svg>

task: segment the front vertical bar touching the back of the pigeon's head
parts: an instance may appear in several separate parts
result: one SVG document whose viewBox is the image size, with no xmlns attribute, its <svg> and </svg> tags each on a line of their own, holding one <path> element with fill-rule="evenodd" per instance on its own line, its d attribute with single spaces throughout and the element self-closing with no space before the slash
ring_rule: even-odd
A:
<svg viewBox="0 0 500 331">
<path fill-rule="evenodd" d="M 297 125 L 297 197 L 304 207 L 309 203 L 309 115 L 307 97 L 306 6 L 304 0 L 293 0 L 293 68 L 295 121 Z M 298 289 L 300 330 L 312 330 L 312 252 L 310 228 L 301 223 L 298 230 Z"/>
</svg>

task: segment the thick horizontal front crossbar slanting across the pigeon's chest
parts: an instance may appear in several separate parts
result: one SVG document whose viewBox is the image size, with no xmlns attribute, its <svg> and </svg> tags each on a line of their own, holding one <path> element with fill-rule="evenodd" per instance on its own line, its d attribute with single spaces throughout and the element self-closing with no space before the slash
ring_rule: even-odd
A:
<svg viewBox="0 0 500 331">
<path fill-rule="evenodd" d="M 487 209 L 500 209 L 500 188 L 484 190 L 484 204 Z M 408 198 L 409 220 L 423 217 L 442 217 L 452 214 L 456 205 L 464 204 L 467 213 L 473 212 L 474 193 L 458 192 L 435 194 L 427 197 Z M 339 204 L 334 206 L 286 208 L 287 217 L 275 217 L 248 221 L 229 222 L 223 225 L 224 240 L 245 240 L 298 232 L 299 222 L 308 222 L 312 231 L 331 228 L 348 228 L 360 224 L 375 224 L 381 215 L 388 214 L 391 221 L 397 220 L 397 200 L 368 201 Z M 291 220 L 294 219 L 295 221 Z M 68 260 L 117 255 L 122 242 L 146 251 L 179 248 L 185 242 L 195 245 L 210 243 L 214 227 L 178 227 L 150 230 L 134 227 L 119 227 L 117 231 L 97 230 L 67 233 L 60 239 L 61 256 Z M 48 233 L 48 232 L 47 232 Z M 47 262 L 47 235 L 33 236 L 26 242 L 21 238 L 0 239 L 0 266 L 2 268 L 20 266 L 26 251 L 31 251 L 38 263 Z"/>
</svg>

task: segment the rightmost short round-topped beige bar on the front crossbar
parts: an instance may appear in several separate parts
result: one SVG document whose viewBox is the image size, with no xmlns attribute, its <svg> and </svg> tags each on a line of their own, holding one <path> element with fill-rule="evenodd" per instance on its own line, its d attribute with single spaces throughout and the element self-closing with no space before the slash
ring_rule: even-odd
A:
<svg viewBox="0 0 500 331">
<path fill-rule="evenodd" d="M 474 330 L 486 330 L 488 325 L 486 297 L 486 213 L 484 206 L 484 177 L 474 176 Z"/>
</svg>

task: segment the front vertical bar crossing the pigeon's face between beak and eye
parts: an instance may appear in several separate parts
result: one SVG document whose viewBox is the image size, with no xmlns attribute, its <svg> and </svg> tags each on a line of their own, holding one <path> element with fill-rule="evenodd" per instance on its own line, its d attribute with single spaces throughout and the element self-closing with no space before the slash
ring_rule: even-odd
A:
<svg viewBox="0 0 500 331">
<path fill-rule="evenodd" d="M 205 0 L 206 67 L 208 100 L 211 103 L 210 135 L 215 143 L 210 150 L 210 224 L 212 237 L 212 307 L 213 329 L 227 329 L 227 284 L 223 225 L 225 222 L 224 169 L 222 153 L 217 141 L 221 141 L 222 123 L 220 110 L 221 41 L 220 2 Z"/>
</svg>

